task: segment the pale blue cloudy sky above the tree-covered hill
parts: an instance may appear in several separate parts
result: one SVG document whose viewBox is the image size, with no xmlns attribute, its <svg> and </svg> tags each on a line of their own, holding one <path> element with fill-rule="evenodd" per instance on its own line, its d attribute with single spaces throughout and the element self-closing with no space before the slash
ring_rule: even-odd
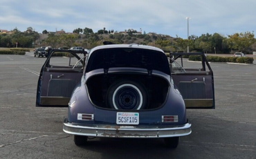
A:
<svg viewBox="0 0 256 159">
<path fill-rule="evenodd" d="M 255 0 L 0 0 L 0 29 L 21 31 L 92 28 L 139 31 L 182 38 L 255 31 Z"/>
</svg>

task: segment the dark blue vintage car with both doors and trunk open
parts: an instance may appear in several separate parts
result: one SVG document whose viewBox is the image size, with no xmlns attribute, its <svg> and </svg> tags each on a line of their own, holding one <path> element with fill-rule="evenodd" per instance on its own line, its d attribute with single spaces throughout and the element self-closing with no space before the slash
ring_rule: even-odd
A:
<svg viewBox="0 0 256 159">
<path fill-rule="evenodd" d="M 67 64 L 55 56 L 62 52 L 72 55 Z M 199 68 L 184 68 L 183 55 L 201 56 Z M 214 82 L 203 53 L 170 57 L 138 44 L 97 46 L 89 55 L 52 50 L 39 75 L 36 106 L 68 106 L 63 131 L 77 145 L 88 137 L 163 138 L 176 148 L 192 132 L 186 109 L 214 109 Z"/>
</svg>

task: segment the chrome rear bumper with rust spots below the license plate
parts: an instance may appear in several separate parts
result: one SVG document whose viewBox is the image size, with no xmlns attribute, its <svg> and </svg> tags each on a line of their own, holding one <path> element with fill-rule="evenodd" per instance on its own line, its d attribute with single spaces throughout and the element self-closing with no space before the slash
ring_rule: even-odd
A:
<svg viewBox="0 0 256 159">
<path fill-rule="evenodd" d="M 107 138 L 170 138 L 190 135 L 191 124 L 179 126 L 120 126 L 71 124 L 64 120 L 63 131 L 72 135 L 86 135 Z"/>
</svg>

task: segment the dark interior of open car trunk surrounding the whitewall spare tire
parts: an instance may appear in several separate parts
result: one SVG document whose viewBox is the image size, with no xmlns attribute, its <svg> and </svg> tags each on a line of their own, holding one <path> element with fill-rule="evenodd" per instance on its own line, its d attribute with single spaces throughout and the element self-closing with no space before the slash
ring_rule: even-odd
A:
<svg viewBox="0 0 256 159">
<path fill-rule="evenodd" d="M 90 77 L 86 82 L 86 87 L 89 91 L 91 102 L 100 108 L 111 109 L 107 104 L 107 93 L 109 93 L 109 89 L 113 84 L 124 80 L 138 82 L 145 88 L 148 101 L 146 101 L 147 106 L 143 109 L 158 109 L 165 103 L 169 91 L 169 83 L 166 79 L 154 75 L 131 73 L 102 74 Z"/>
</svg>

